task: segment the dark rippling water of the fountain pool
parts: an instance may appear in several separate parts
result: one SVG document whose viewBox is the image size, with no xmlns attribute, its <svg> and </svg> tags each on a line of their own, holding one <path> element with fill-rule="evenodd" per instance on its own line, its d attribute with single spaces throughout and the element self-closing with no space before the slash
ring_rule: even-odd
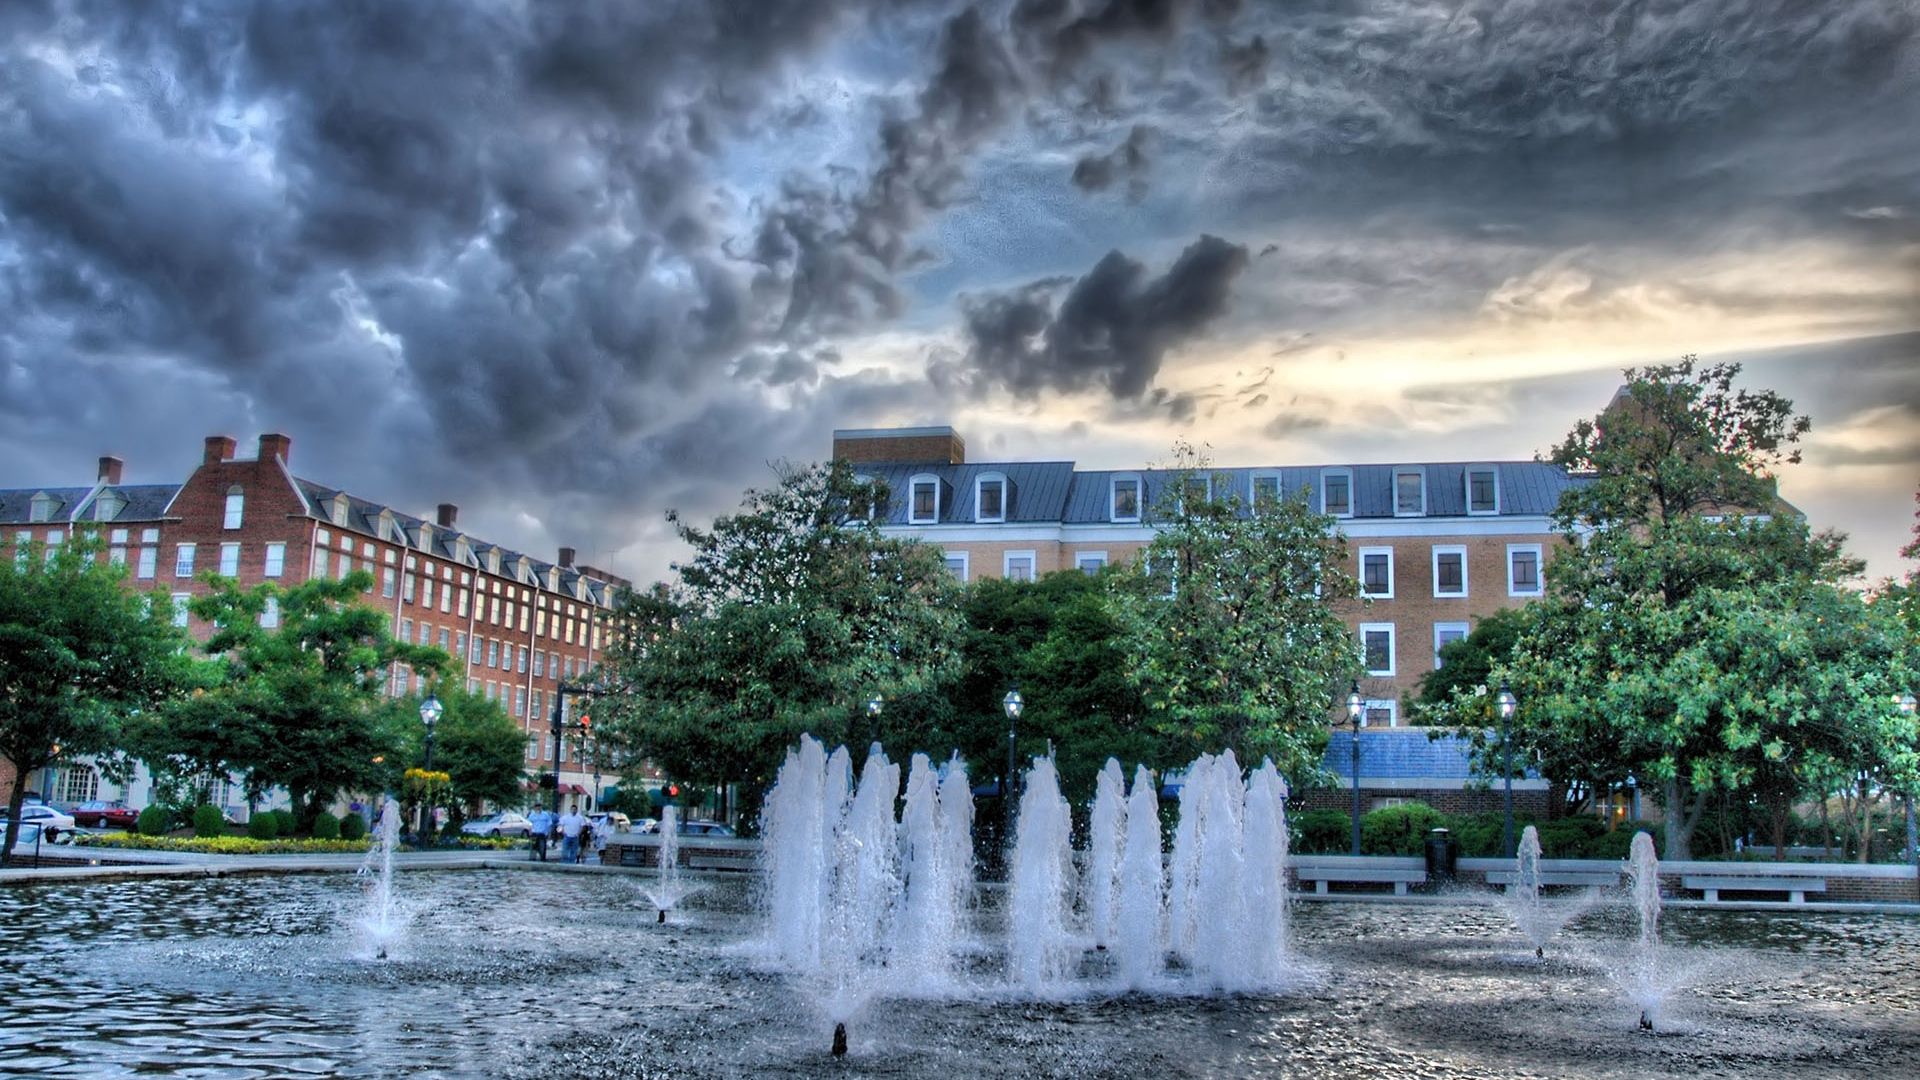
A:
<svg viewBox="0 0 1920 1080">
<path fill-rule="evenodd" d="M 1645 1034 L 1622 909 L 1536 961 L 1492 901 L 1296 905 L 1286 992 L 1020 1001 L 989 953 L 956 999 L 868 1005 L 835 1061 L 739 884 L 668 926 L 639 884 L 407 872 L 384 963 L 348 874 L 0 890 L 0 1076 L 1920 1076 L 1916 919 L 1668 911 Z"/>
</svg>

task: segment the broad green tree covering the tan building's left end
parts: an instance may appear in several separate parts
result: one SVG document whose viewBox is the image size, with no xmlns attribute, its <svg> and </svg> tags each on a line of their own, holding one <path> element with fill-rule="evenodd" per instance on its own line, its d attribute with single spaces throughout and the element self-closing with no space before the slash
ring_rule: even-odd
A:
<svg viewBox="0 0 1920 1080">
<path fill-rule="evenodd" d="M 960 586 L 939 550 L 883 536 L 881 484 L 845 461 L 781 467 L 710 530 L 668 515 L 693 557 L 678 584 L 614 603 L 595 707 L 609 751 L 680 778 L 764 786 L 803 732 L 824 740 L 925 726 L 960 671 Z"/>
</svg>

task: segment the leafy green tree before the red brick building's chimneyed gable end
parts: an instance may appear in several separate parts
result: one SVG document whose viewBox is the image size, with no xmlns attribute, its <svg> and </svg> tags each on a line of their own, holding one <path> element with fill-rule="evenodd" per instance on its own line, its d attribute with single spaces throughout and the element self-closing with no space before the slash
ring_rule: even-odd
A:
<svg viewBox="0 0 1920 1080">
<path fill-rule="evenodd" d="M 215 626 L 205 650 L 223 678 L 144 717 L 131 730 L 131 751 L 156 773 L 238 773 L 252 796 L 286 788 L 300 821 L 346 788 L 374 788 L 382 765 L 397 761 L 378 721 L 392 667 L 432 676 L 447 655 L 388 634 L 388 613 L 361 603 L 372 584 L 365 571 L 290 590 L 205 582 L 211 592 L 192 607 Z M 276 626 L 261 626 L 269 603 L 278 605 Z"/>
</svg>

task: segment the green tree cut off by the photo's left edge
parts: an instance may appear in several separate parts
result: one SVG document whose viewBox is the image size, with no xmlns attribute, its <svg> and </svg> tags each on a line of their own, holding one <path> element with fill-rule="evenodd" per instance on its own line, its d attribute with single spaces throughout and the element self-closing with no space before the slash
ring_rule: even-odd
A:
<svg viewBox="0 0 1920 1080">
<path fill-rule="evenodd" d="M 27 782 L 63 757 L 111 751 L 123 719 L 179 694 L 188 638 L 161 594 L 125 588 L 125 567 L 75 536 L 48 552 L 17 544 L 0 559 L 0 757 L 13 767 L 8 821 Z M 12 857 L 15 824 L 0 840 Z"/>
</svg>

